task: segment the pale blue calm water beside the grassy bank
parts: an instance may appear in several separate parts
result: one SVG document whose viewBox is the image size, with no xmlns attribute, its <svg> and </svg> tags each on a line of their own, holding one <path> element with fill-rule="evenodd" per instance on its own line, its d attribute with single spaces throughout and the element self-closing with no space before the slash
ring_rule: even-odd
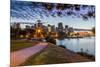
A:
<svg viewBox="0 0 100 67">
<path fill-rule="evenodd" d="M 86 38 L 75 38 L 75 39 L 56 39 L 57 45 L 64 45 L 67 49 L 74 52 L 86 52 L 91 55 L 95 55 L 95 37 L 86 37 Z"/>
</svg>

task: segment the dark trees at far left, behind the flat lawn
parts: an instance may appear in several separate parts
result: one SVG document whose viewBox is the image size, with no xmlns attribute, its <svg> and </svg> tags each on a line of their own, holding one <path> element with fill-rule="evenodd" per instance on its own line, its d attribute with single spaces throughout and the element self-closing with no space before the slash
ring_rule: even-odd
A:
<svg viewBox="0 0 100 67">
<path fill-rule="evenodd" d="M 16 27 L 10 26 L 10 33 L 11 33 L 11 38 L 26 38 L 26 35 L 29 35 L 29 37 L 33 37 L 33 34 L 35 33 L 35 29 L 27 26 L 22 29 L 20 27 L 20 24 L 16 24 Z M 21 36 L 22 35 L 22 36 Z"/>
</svg>

